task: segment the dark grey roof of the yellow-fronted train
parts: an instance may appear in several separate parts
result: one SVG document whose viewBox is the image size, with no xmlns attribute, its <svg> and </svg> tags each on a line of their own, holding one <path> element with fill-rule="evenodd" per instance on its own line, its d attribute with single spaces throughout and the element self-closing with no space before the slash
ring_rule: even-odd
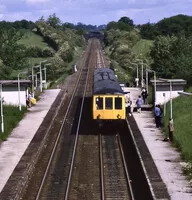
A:
<svg viewBox="0 0 192 200">
<path fill-rule="evenodd" d="M 94 94 L 123 94 L 123 90 L 110 68 L 98 68 L 94 72 Z"/>
</svg>

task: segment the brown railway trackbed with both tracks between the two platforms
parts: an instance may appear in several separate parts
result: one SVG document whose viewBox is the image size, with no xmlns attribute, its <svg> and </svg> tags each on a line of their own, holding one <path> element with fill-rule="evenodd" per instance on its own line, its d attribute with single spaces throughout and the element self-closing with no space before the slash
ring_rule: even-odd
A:
<svg viewBox="0 0 192 200">
<path fill-rule="evenodd" d="M 133 200 L 143 198 L 138 192 L 149 193 L 139 161 L 133 158 L 127 124 L 99 129 L 92 120 L 93 73 L 95 66 L 107 66 L 105 60 L 98 40 L 90 40 L 75 84 L 67 93 L 63 89 L 58 113 L 47 124 L 48 136 L 28 187 L 18 198 L 6 198 L 5 193 L 3 200 Z"/>
</svg>

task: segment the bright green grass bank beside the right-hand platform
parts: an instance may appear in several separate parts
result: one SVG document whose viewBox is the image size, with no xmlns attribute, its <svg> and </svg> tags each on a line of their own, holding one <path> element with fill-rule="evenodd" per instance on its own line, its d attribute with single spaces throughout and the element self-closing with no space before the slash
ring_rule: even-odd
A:
<svg viewBox="0 0 192 200">
<path fill-rule="evenodd" d="M 192 182 L 192 96 L 180 96 L 173 100 L 172 112 L 174 120 L 174 143 L 184 160 L 183 169 Z M 168 121 L 170 116 L 170 104 L 166 105 L 166 116 L 163 118 L 163 130 L 168 135 Z"/>
</svg>

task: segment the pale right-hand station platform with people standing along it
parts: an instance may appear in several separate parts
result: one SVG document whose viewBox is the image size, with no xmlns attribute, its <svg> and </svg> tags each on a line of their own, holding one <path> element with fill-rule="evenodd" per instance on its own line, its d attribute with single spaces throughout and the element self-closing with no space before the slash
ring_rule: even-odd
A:
<svg viewBox="0 0 192 200">
<path fill-rule="evenodd" d="M 139 88 L 126 88 L 130 91 L 133 117 L 147 145 L 147 148 L 158 169 L 162 181 L 165 183 L 172 200 L 191 200 L 192 187 L 182 172 L 182 160 L 178 150 L 171 142 L 165 142 L 165 134 L 156 128 L 152 107 L 142 105 L 141 113 L 137 112 L 136 100 L 141 95 Z"/>
</svg>

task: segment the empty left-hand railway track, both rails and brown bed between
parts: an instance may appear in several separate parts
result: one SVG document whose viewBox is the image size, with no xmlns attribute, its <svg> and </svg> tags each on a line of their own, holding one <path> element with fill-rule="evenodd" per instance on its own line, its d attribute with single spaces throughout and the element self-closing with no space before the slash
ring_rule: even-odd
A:
<svg viewBox="0 0 192 200">
<path fill-rule="evenodd" d="M 66 130 L 65 129 L 66 119 L 70 118 L 70 116 L 74 116 L 74 114 L 66 112 L 66 115 L 63 118 L 63 122 L 62 122 L 62 125 L 60 128 L 60 131 L 58 133 L 58 137 L 55 142 L 53 151 L 51 153 L 45 174 L 43 176 L 41 185 L 38 189 L 38 193 L 35 198 L 36 200 L 50 199 L 50 198 L 55 198 L 55 199 L 58 199 L 58 198 L 59 199 L 60 198 L 67 199 L 68 198 L 69 187 L 70 187 L 70 182 L 71 182 L 71 175 L 72 175 L 72 171 L 73 171 L 73 163 L 74 163 L 74 158 L 75 158 L 75 154 L 76 154 L 76 146 L 77 146 L 77 141 L 78 141 L 79 127 L 80 127 L 84 99 L 85 99 L 85 92 L 86 92 L 86 87 L 87 87 L 87 83 L 88 83 L 90 57 L 93 57 L 93 55 L 91 55 L 91 54 L 94 53 L 92 50 L 92 49 L 94 49 L 92 47 L 93 45 L 94 44 L 90 44 L 88 56 L 85 59 L 84 67 L 82 67 L 82 69 L 81 69 L 78 81 L 76 83 L 76 87 L 71 96 L 71 101 L 70 101 L 70 104 L 67 109 L 67 111 L 69 111 L 71 109 L 71 107 L 73 106 L 72 104 L 78 105 L 78 107 L 76 109 L 76 113 L 75 113 L 75 116 L 78 116 L 78 117 L 76 117 L 76 119 L 73 120 L 76 122 L 75 125 L 73 125 L 74 129 L 72 130 L 72 134 L 71 134 L 71 132 L 68 132 L 67 136 L 66 136 L 66 131 L 65 131 Z M 64 136 L 60 140 L 61 134 L 63 134 Z M 61 151 L 62 146 L 63 146 L 61 144 L 61 141 L 63 141 L 63 142 L 68 141 L 69 143 L 71 143 L 71 145 L 69 146 L 69 149 L 70 149 L 69 154 L 71 155 L 70 162 L 67 162 L 67 161 L 62 162 L 62 160 L 58 159 L 58 155 L 61 155 L 63 153 L 63 151 Z M 58 143 L 60 143 L 60 145 Z M 54 155 L 56 155 L 56 156 L 54 157 Z M 57 162 L 54 162 L 54 159 L 55 160 L 57 159 Z M 68 159 L 69 159 L 69 157 L 68 157 Z M 68 165 L 68 167 L 66 167 L 66 165 Z M 56 170 L 55 170 L 55 166 L 56 166 Z M 52 168 L 52 170 L 50 170 L 51 168 Z M 61 171 L 58 169 L 61 169 Z M 69 174 L 68 174 L 68 171 L 69 171 Z M 53 174 L 58 176 L 59 181 L 55 181 L 55 179 L 52 178 Z M 57 183 L 59 183 L 59 185 Z"/>
</svg>

